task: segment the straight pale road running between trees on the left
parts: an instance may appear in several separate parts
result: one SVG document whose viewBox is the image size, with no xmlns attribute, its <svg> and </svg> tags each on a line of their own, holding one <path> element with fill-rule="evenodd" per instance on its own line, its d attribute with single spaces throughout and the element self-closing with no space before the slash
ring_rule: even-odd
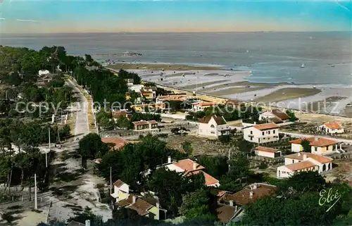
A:
<svg viewBox="0 0 352 226">
<path fill-rule="evenodd" d="M 75 86 L 75 83 L 72 80 L 68 80 L 68 85 L 73 87 L 74 91 L 77 93 L 77 97 L 79 101 L 76 102 L 76 125 L 75 125 L 75 135 L 80 135 L 79 137 L 84 137 L 85 134 L 89 133 L 89 125 L 88 125 L 88 114 L 87 114 L 87 106 L 88 101 L 87 98 L 80 92 Z"/>
</svg>

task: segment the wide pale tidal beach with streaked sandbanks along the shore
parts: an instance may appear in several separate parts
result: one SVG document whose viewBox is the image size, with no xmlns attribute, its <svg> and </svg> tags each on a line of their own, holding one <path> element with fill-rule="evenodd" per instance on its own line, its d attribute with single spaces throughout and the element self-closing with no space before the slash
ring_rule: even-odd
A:
<svg viewBox="0 0 352 226">
<path fill-rule="evenodd" d="M 352 116 L 352 111 L 346 108 L 346 104 L 352 102 L 352 87 L 330 84 L 289 84 L 280 81 L 276 84 L 248 82 L 251 71 L 245 70 L 221 70 L 188 65 L 171 65 L 170 69 L 168 65 L 161 64 L 143 64 L 140 65 L 141 68 L 137 66 L 138 64 L 128 65 L 131 69 L 126 68 L 127 70 L 138 73 L 146 82 L 227 99 L 260 102 L 301 111 Z M 117 66 L 119 67 L 120 65 Z M 109 65 L 109 68 L 116 67 Z M 175 68 L 182 68 L 182 70 Z"/>
</svg>

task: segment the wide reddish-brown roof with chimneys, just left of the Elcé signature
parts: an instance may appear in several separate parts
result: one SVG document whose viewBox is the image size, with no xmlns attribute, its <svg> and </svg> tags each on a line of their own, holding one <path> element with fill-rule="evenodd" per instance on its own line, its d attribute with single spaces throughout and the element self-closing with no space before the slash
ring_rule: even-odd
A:
<svg viewBox="0 0 352 226">
<path fill-rule="evenodd" d="M 276 189 L 277 187 L 269 184 L 257 183 L 256 189 L 250 189 L 249 187 L 246 187 L 245 189 L 242 189 L 241 191 L 235 194 L 225 194 L 225 196 L 223 196 L 221 200 L 232 200 L 237 205 L 244 206 L 257 201 L 258 199 L 262 199 L 265 196 L 272 196 L 273 194 L 275 194 Z M 250 197 L 250 192 L 253 192 L 252 198 Z"/>
</svg>

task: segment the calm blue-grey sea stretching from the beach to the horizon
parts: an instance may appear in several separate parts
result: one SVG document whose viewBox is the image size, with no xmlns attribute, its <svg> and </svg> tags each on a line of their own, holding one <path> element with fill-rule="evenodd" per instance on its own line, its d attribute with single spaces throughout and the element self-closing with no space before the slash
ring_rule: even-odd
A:
<svg viewBox="0 0 352 226">
<path fill-rule="evenodd" d="M 352 85 L 351 32 L 2 34 L 0 45 L 60 45 L 99 61 L 222 65 L 251 70 L 251 82 Z"/>
</svg>

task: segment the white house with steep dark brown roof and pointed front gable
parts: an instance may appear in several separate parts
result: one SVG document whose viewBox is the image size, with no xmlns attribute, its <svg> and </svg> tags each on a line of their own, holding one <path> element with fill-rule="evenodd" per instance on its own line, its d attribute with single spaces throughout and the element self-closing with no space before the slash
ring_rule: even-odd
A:
<svg viewBox="0 0 352 226">
<path fill-rule="evenodd" d="M 230 135 L 231 128 L 227 126 L 225 118 L 207 115 L 199 120 L 198 134 L 208 137 Z"/>
</svg>

